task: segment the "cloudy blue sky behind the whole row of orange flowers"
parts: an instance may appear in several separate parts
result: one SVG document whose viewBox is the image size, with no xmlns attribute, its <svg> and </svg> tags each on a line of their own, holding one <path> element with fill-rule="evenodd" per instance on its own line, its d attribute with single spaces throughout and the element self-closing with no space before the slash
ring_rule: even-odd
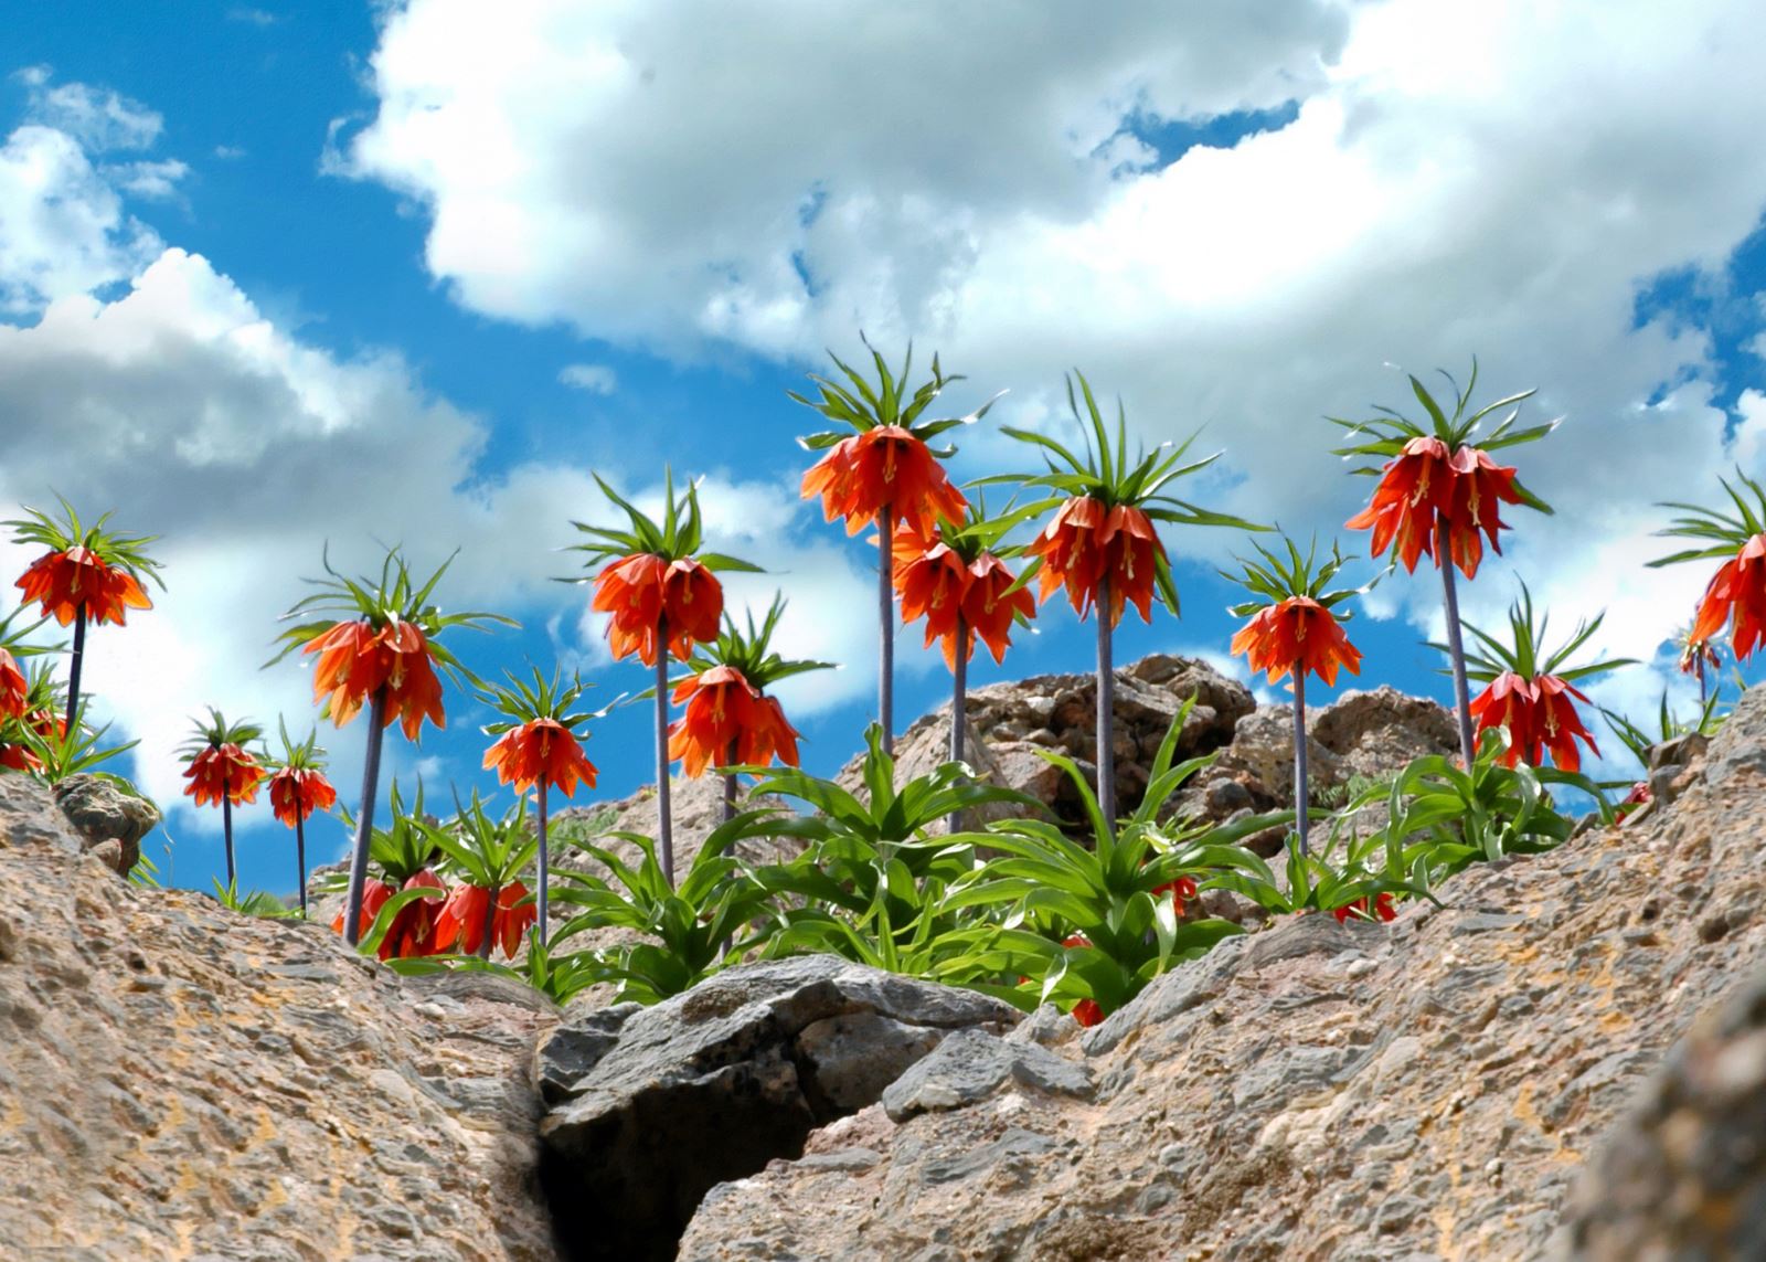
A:
<svg viewBox="0 0 1766 1262">
<path fill-rule="evenodd" d="M 844 762 L 874 691 L 867 555 L 796 504 L 812 417 L 786 391 L 860 329 L 940 350 L 971 378 L 957 408 L 1010 391 L 959 477 L 1024 467 L 991 422 L 1063 424 L 1077 364 L 1143 440 L 1226 452 L 1197 498 L 1326 537 L 1365 484 L 1321 417 L 1402 403 L 1386 364 L 1476 354 L 1565 426 L 1517 452 L 1558 516 L 1510 514 L 1469 613 L 1517 578 L 1563 626 L 1609 608 L 1602 649 L 1646 663 L 1604 684 L 1619 709 L 1679 686 L 1658 650 L 1702 583 L 1641 567 L 1651 502 L 1761 472 L 1754 5 L 192 9 L 37 5 L 0 65 L 0 507 L 55 488 L 164 536 L 168 594 L 94 635 L 88 680 L 171 808 L 177 884 L 221 847 L 171 749 L 208 703 L 306 728 L 302 670 L 258 665 L 327 543 L 350 567 L 376 539 L 461 548 L 449 601 L 526 627 L 461 636 L 482 673 L 641 688 L 586 589 L 549 582 L 600 513 L 590 470 L 639 497 L 669 460 L 706 477 L 717 543 L 774 571 L 738 599 L 777 583 L 786 647 L 846 663 L 788 693 L 809 765 Z M 1120 659 L 1224 656 L 1213 571 L 1245 541 L 1166 543 L 1185 617 L 1125 622 Z M 1434 574 L 1381 585 L 1355 682 L 1445 696 L 1436 603 Z M 902 725 L 947 686 L 917 643 Z M 1088 661 L 1049 606 L 975 682 Z M 472 783 L 486 716 L 449 714 L 392 742 L 401 778 Z M 321 742 L 351 797 L 360 725 Z M 641 707 L 606 719 L 599 794 L 646 751 Z M 291 884 L 267 811 L 238 841 L 245 884 Z"/>
</svg>

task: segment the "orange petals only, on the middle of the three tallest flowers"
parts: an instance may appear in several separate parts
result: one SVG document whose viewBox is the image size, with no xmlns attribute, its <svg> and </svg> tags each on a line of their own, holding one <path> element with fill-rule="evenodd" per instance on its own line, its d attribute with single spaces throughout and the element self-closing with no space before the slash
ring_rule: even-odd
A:
<svg viewBox="0 0 1766 1262">
<path fill-rule="evenodd" d="M 1042 599 L 1067 587 L 1081 619 L 1109 580 L 1109 624 L 1121 622 L 1134 601 L 1143 622 L 1153 620 L 1153 578 L 1166 546 L 1153 521 L 1132 504 L 1106 506 L 1075 495 L 1060 507 L 1026 553 L 1042 557 Z"/>
</svg>

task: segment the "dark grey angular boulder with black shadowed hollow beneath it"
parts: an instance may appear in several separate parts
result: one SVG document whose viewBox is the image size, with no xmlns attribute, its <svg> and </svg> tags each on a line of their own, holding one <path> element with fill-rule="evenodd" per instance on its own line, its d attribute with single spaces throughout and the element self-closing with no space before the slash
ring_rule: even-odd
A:
<svg viewBox="0 0 1766 1262">
<path fill-rule="evenodd" d="M 540 1135 L 560 1239 L 579 1258 L 671 1258 L 713 1184 L 798 1156 L 811 1129 L 874 1103 L 952 1032 L 1017 1020 L 987 995 L 832 956 L 572 1018 L 539 1053 L 558 1101 Z"/>
</svg>

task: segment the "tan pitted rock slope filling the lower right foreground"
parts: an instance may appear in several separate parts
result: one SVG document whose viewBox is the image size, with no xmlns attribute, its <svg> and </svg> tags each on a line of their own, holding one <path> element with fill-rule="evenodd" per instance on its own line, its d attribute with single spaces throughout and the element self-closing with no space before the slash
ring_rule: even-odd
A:
<svg viewBox="0 0 1766 1262">
<path fill-rule="evenodd" d="M 1310 916 L 1227 940 L 1079 1039 L 1031 1018 L 1026 1041 L 1088 1069 L 1093 1098 L 1007 1076 L 901 1124 L 864 1110 L 713 1190 L 680 1257 L 1563 1255 L 1579 1168 L 1695 1015 L 1766 963 L 1762 748 L 1755 689 L 1709 749 L 1711 781 L 1690 776 L 1637 825 L 1473 868 L 1446 908 L 1393 924 Z M 1736 1002 L 1750 1015 L 1722 1029 L 1748 1052 L 1687 1052 L 1681 1085 L 1657 1089 L 1658 1137 L 1632 1149 L 1676 1186 L 1757 1179 L 1757 1147 L 1701 1151 L 1669 1126 L 1690 1110 L 1701 1133 L 1759 1138 L 1724 1094 L 1755 1064 L 1736 1030 L 1757 1009 Z M 1658 1221 L 1671 1190 L 1626 1191 L 1655 1175 L 1607 1168 L 1637 1232 L 1657 1232 L 1641 1239 L 1688 1239 Z"/>
</svg>

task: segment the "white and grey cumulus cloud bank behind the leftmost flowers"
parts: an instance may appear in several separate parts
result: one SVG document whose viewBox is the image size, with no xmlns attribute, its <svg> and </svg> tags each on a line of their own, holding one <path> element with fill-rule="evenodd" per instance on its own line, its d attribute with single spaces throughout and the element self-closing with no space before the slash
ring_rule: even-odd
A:
<svg viewBox="0 0 1766 1262">
<path fill-rule="evenodd" d="M 161 536 L 154 551 L 168 590 L 131 617 L 127 635 L 94 631 L 87 668 L 101 716 L 141 739 L 148 794 L 177 801 L 173 751 L 203 702 L 237 714 L 309 712 L 298 663 L 258 666 L 272 650 L 274 613 L 309 592 L 300 580 L 320 569 L 327 546 L 343 573 L 374 567 L 376 541 L 408 543 L 417 567 L 459 546 L 450 603 L 535 620 L 581 606 L 583 590 L 547 580 L 563 566 L 553 548 L 570 543 L 567 521 L 599 498 L 586 468 L 519 465 L 480 477 L 486 419 L 429 394 L 399 355 L 318 350 L 265 318 L 208 260 L 157 240 L 148 247 L 124 210 L 125 191 L 95 171 L 79 136 L 32 124 L 5 154 L 25 150 L 58 166 L 0 186 L 14 198 L 7 205 L 28 212 L 21 223 L 60 216 L 81 232 L 0 256 L 0 293 L 30 306 L 0 323 L 0 516 L 21 504 L 53 507 L 58 493 Z M 800 574 L 811 604 L 864 590 L 842 559 L 791 541 L 796 509 L 779 507 L 791 500 L 777 488 L 726 477 L 703 493 L 713 544 L 784 571 L 788 587 Z M 535 523 L 546 523 L 544 537 Z M 0 543 L 0 571 L 32 559 Z M 832 620 L 795 619 L 786 647 L 849 656 L 841 635 Z M 805 700 L 844 696 L 825 689 Z M 358 728 L 332 742 L 339 758 L 358 751 Z M 208 815 L 201 827 L 212 827 Z"/>
</svg>

